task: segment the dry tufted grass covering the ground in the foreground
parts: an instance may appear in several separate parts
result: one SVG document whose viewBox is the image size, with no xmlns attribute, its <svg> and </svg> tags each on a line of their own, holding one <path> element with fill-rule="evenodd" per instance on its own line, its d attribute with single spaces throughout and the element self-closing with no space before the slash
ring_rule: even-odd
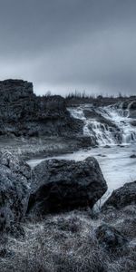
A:
<svg viewBox="0 0 136 272">
<path fill-rule="evenodd" d="M 134 223 L 130 223 L 130 219 L 135 216 L 134 207 L 128 207 L 120 212 L 98 214 L 96 219 L 87 211 L 73 211 L 46 216 L 41 222 L 27 222 L 24 224 L 25 238 L 8 238 L 7 250 L 11 251 L 11 256 L 1 258 L 0 271 L 134 272 L 136 240 Z M 124 234 L 131 226 L 126 247 L 112 253 L 99 243 L 96 229 L 103 222 Z"/>
</svg>

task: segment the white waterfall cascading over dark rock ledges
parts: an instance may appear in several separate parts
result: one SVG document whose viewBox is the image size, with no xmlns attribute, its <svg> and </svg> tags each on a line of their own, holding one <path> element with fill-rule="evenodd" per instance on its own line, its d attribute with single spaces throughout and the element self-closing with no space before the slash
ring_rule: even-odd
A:
<svg viewBox="0 0 136 272">
<path fill-rule="evenodd" d="M 69 108 L 73 118 L 84 122 L 83 134 L 91 136 L 99 145 L 136 142 L 136 116 L 130 117 L 130 104 L 116 103 L 106 107 L 92 104 Z"/>
</svg>

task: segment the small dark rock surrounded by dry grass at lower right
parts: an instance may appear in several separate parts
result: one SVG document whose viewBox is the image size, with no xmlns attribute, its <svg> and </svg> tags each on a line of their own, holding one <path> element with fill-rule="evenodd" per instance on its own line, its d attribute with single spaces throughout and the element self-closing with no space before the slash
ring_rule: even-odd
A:
<svg viewBox="0 0 136 272">
<path fill-rule="evenodd" d="M 123 247 L 128 241 L 120 231 L 107 224 L 102 224 L 96 229 L 96 238 L 107 249 Z"/>
</svg>

